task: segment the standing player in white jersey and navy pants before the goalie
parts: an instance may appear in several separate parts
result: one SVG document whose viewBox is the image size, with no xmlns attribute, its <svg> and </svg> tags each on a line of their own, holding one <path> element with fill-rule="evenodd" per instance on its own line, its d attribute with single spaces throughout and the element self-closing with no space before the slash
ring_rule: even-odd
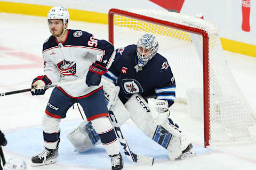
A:
<svg viewBox="0 0 256 170">
<path fill-rule="evenodd" d="M 102 74 L 107 72 L 115 57 L 114 46 L 106 40 L 68 28 L 67 8 L 52 7 L 47 13 L 50 36 L 43 45 L 45 75 L 33 80 L 32 95 L 43 95 L 43 86 L 83 80 L 53 89 L 43 116 L 43 138 L 45 149 L 32 157 L 32 166 L 52 164 L 57 161 L 60 143 L 59 123 L 66 117 L 68 109 L 79 103 L 87 121 L 91 121 L 99 135 L 107 154 L 111 158 L 112 169 L 122 169 L 123 160 L 113 126 L 108 119 L 108 109 L 103 94 Z"/>
</svg>

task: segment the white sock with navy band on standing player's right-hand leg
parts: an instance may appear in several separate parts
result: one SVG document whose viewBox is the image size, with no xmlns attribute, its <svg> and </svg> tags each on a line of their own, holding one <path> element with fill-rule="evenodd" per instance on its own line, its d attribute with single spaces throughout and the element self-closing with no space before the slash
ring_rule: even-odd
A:
<svg viewBox="0 0 256 170">
<path fill-rule="evenodd" d="M 99 117 L 91 121 L 92 126 L 98 133 L 102 145 L 105 147 L 108 155 L 117 155 L 120 152 L 119 143 L 115 131 L 108 117 Z"/>
</svg>

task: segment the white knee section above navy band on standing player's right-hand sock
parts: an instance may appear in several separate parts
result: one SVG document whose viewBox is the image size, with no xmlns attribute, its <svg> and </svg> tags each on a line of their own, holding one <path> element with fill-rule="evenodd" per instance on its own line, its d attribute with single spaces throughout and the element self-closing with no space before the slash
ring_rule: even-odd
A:
<svg viewBox="0 0 256 170">
<path fill-rule="evenodd" d="M 106 116 L 95 118 L 91 122 L 93 128 L 97 133 L 105 133 L 113 128 L 113 126 L 109 122 L 108 117 Z"/>
</svg>

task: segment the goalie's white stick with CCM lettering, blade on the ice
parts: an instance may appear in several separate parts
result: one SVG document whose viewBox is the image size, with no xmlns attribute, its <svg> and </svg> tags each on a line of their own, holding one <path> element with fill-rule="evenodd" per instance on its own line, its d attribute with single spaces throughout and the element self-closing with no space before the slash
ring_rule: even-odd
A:
<svg viewBox="0 0 256 170">
<path fill-rule="evenodd" d="M 154 164 L 154 158 L 153 157 L 149 157 L 149 156 L 142 156 L 142 155 L 137 155 L 134 154 L 127 141 L 124 138 L 124 135 L 119 127 L 119 124 L 116 120 L 116 117 L 114 115 L 113 112 L 109 111 L 109 120 L 111 122 L 111 124 L 114 127 L 114 130 L 116 132 L 116 136 L 119 139 L 119 142 L 121 144 L 121 146 L 123 146 L 123 150 L 124 150 L 124 154 L 126 155 L 126 157 L 131 160 L 132 162 L 136 162 L 136 163 L 140 163 L 140 164 L 146 164 L 146 165 L 153 165 Z"/>
</svg>

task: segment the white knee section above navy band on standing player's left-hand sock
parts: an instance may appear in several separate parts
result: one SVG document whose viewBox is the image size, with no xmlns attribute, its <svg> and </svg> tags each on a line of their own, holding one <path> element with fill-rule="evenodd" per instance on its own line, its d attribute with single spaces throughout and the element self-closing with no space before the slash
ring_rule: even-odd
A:
<svg viewBox="0 0 256 170">
<path fill-rule="evenodd" d="M 47 114 L 44 114 L 42 119 L 43 131 L 45 133 L 55 133 L 60 131 L 59 124 L 60 118 L 54 118 Z"/>
</svg>

